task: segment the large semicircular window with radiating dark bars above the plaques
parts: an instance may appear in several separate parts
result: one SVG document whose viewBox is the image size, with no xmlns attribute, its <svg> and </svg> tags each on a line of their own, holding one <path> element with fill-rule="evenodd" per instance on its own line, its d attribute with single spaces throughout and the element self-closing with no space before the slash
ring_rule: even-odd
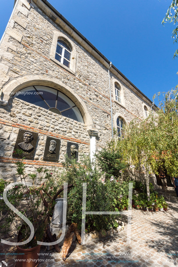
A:
<svg viewBox="0 0 178 267">
<path fill-rule="evenodd" d="M 29 86 L 18 91 L 15 97 L 75 121 L 84 122 L 75 103 L 57 89 L 39 85 Z"/>
</svg>

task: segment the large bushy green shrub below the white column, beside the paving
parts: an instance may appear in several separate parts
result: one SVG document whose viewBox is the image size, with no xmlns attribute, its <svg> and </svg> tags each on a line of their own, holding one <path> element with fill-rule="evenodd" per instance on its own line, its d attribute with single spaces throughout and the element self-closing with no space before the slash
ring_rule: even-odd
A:
<svg viewBox="0 0 178 267">
<path fill-rule="evenodd" d="M 83 183 L 87 183 L 86 211 L 115 211 L 115 183 L 103 183 L 103 173 L 91 163 L 89 157 L 80 158 L 80 162 L 67 159 L 62 181 L 71 181 L 75 186 L 68 192 L 68 220 L 78 224 L 82 222 Z M 109 229 L 118 215 L 86 215 L 86 231 Z"/>
</svg>

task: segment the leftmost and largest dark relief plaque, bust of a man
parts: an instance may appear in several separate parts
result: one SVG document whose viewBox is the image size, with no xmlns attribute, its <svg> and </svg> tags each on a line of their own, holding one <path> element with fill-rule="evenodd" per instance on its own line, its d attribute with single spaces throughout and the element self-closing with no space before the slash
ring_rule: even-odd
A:
<svg viewBox="0 0 178 267">
<path fill-rule="evenodd" d="M 34 157 L 37 138 L 38 133 L 20 129 L 15 142 L 14 151 L 21 149 L 23 151 L 23 154 L 19 155 L 18 153 L 13 153 L 13 157 L 25 157 L 32 159 Z"/>
</svg>

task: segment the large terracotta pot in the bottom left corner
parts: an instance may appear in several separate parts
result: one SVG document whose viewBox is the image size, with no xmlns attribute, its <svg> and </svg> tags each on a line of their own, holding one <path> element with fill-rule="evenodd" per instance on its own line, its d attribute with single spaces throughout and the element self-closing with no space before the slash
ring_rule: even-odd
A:
<svg viewBox="0 0 178 267">
<path fill-rule="evenodd" d="M 21 241 L 20 241 L 21 242 Z M 25 261 L 16 261 L 15 267 L 36 267 L 38 266 L 38 258 L 40 252 L 41 245 L 37 247 L 32 247 L 28 249 L 23 249 L 17 245 L 17 259 L 25 260 Z M 20 253 L 24 253 L 24 255 L 19 255 Z M 34 260 L 34 261 L 33 261 Z"/>
</svg>

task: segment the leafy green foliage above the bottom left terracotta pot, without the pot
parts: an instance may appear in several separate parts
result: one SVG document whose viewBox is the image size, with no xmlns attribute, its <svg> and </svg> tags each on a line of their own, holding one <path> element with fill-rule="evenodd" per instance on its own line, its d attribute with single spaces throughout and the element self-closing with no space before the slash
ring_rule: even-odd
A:
<svg viewBox="0 0 178 267">
<path fill-rule="evenodd" d="M 22 150 L 15 151 L 16 154 L 21 155 L 23 153 Z M 25 172 L 25 164 L 23 163 L 24 158 L 22 160 L 18 160 L 15 162 L 16 171 L 18 179 L 20 178 L 21 182 L 26 182 L 27 178 L 31 178 L 33 185 L 32 187 L 28 187 L 27 185 L 18 184 L 13 186 L 8 190 L 7 198 L 8 201 L 15 206 L 20 212 L 27 217 L 34 226 L 34 237 L 33 239 L 23 245 L 23 248 L 35 247 L 37 245 L 37 241 L 41 241 L 43 239 L 45 227 L 49 223 L 49 215 L 52 212 L 52 208 L 54 207 L 55 201 L 48 202 L 49 207 L 45 208 L 43 206 L 42 198 L 40 197 L 40 190 L 42 188 L 35 187 L 34 183 L 38 176 L 40 183 L 42 180 L 47 180 L 50 177 L 49 170 L 43 167 L 37 169 L 38 174 L 26 174 Z M 1 185 L 4 184 L 1 182 Z M 4 186 L 3 186 L 4 188 Z M 43 196 L 47 199 L 48 194 L 44 193 Z M 4 201 L 3 201 L 4 203 Z M 1 205 L 0 203 L 0 213 L 3 214 L 4 211 L 5 216 L 1 217 L 0 227 L 1 234 L 10 230 L 11 225 L 14 224 L 17 231 L 20 230 L 22 240 L 27 240 L 29 238 L 31 230 L 29 226 L 24 222 L 22 218 L 20 218 L 16 213 L 14 213 L 9 207 Z M 15 223 L 17 221 L 17 224 Z"/>
</svg>

